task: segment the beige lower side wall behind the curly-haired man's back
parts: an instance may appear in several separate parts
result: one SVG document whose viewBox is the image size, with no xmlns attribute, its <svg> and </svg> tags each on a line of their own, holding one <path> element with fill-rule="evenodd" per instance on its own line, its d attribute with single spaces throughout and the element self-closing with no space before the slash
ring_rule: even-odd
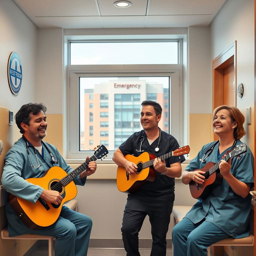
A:
<svg viewBox="0 0 256 256">
<path fill-rule="evenodd" d="M 16 112 L 14 112 L 15 114 Z M 4 141 L 4 149 L 0 155 L 0 178 L 2 177 L 4 156 L 21 134 L 14 122 L 9 125 L 9 109 L 0 108 L 0 140 Z M 6 227 L 5 207 L 0 208 L 0 230 Z M 0 238 L 1 256 L 22 256 L 35 243 L 35 240 L 2 240 Z"/>
</svg>

